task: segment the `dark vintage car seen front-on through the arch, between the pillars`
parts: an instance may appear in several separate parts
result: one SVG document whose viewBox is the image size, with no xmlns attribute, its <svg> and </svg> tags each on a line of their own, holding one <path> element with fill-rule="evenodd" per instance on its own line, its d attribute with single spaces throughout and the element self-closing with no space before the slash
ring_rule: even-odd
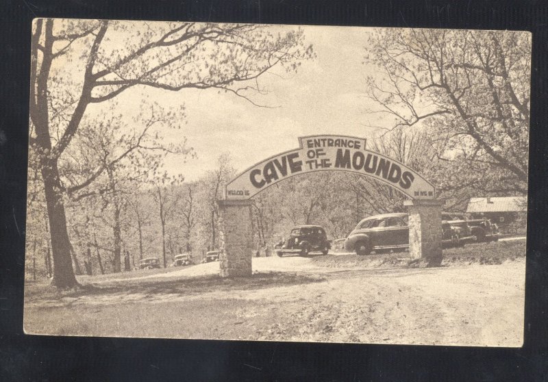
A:
<svg viewBox="0 0 548 382">
<path fill-rule="evenodd" d="M 319 225 L 298 225 L 293 227 L 286 240 L 275 246 L 276 255 L 282 257 L 285 253 L 298 253 L 306 256 L 313 251 L 329 253 L 331 242 L 327 240 L 325 230 Z"/>
</svg>

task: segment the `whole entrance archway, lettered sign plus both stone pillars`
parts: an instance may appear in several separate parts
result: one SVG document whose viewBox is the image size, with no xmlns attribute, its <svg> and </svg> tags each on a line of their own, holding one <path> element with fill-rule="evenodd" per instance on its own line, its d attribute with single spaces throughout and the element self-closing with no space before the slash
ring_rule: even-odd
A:
<svg viewBox="0 0 548 382">
<path fill-rule="evenodd" d="M 371 177 L 409 196 L 410 254 L 437 263 L 441 259 L 441 205 L 436 190 L 414 170 L 386 155 L 366 149 L 364 138 L 306 136 L 299 148 L 255 164 L 230 181 L 219 205 L 221 276 L 251 276 L 253 225 L 251 198 L 295 175 L 347 171 Z"/>
</svg>

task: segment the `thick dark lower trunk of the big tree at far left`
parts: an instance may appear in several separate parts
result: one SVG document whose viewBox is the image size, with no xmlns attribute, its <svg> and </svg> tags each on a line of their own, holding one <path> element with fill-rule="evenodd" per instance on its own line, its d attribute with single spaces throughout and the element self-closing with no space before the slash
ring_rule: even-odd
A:
<svg viewBox="0 0 548 382">
<path fill-rule="evenodd" d="M 60 191 L 55 190 L 58 185 L 59 170 L 57 161 L 50 161 L 42 166 L 42 179 L 47 204 L 49 229 L 51 231 L 51 252 L 53 253 L 53 280 L 52 285 L 68 289 L 78 285 L 74 276 L 71 259 L 71 242 L 66 229 L 66 216 Z"/>
</svg>

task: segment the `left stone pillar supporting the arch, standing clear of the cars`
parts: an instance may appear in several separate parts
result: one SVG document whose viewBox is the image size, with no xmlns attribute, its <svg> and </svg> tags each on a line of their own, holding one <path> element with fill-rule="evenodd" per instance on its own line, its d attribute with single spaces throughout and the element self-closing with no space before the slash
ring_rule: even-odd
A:
<svg viewBox="0 0 548 382">
<path fill-rule="evenodd" d="M 221 277 L 252 275 L 253 230 L 251 201 L 223 200 L 219 205 L 219 262 Z"/>
</svg>

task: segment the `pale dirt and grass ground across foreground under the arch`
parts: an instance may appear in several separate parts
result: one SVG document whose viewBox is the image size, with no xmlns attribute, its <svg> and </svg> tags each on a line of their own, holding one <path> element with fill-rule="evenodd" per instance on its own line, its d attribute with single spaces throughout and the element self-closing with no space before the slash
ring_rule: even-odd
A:
<svg viewBox="0 0 548 382">
<path fill-rule="evenodd" d="M 63 295 L 34 294 L 43 285 L 29 285 L 25 330 L 521 346 L 524 258 L 499 265 L 372 270 L 262 257 L 253 259 L 251 280 L 220 279 L 218 269 L 210 263 L 132 279 L 85 279 L 95 286 Z"/>
</svg>

